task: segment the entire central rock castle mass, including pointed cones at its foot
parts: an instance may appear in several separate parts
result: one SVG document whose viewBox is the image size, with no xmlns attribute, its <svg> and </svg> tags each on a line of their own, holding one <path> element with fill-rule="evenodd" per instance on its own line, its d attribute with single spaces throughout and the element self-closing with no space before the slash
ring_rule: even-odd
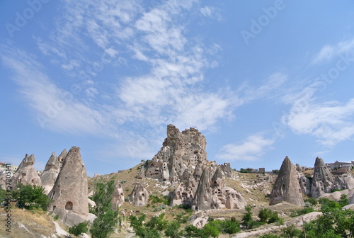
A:
<svg viewBox="0 0 354 238">
<path fill-rule="evenodd" d="M 205 147 L 205 137 L 197 129 L 180 132 L 168 125 L 163 146 L 148 164 L 145 176 L 172 186 L 178 184 L 171 193 L 171 206 L 187 205 L 195 210 L 244 208 L 246 201 L 241 194 L 224 184 L 224 177 L 232 176 L 230 164 L 209 162 Z"/>
</svg>

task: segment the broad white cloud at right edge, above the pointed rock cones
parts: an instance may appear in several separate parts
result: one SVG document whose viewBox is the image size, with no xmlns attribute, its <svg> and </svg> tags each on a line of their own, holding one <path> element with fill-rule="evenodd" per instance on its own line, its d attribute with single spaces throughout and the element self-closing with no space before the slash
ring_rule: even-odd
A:
<svg viewBox="0 0 354 238">
<path fill-rule="evenodd" d="M 354 98 L 346 103 L 319 101 L 316 89 L 308 87 L 292 105 L 283 123 L 299 135 L 312 135 L 327 147 L 333 147 L 354 136 Z"/>
</svg>

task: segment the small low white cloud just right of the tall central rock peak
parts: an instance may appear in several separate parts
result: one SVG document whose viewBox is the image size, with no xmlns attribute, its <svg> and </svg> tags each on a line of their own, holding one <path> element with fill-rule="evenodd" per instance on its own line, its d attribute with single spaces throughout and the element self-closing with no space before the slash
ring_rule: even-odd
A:
<svg viewBox="0 0 354 238">
<path fill-rule="evenodd" d="M 227 160 L 246 160 L 255 161 L 271 149 L 274 139 L 267 139 L 263 135 L 250 135 L 245 140 L 238 143 L 224 145 L 217 158 Z"/>
</svg>

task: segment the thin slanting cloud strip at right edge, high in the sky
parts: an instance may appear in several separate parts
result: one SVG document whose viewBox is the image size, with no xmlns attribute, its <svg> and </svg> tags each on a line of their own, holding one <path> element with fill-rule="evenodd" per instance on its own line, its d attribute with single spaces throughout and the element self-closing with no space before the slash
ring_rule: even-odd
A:
<svg viewBox="0 0 354 238">
<path fill-rule="evenodd" d="M 333 57 L 338 57 L 338 55 L 353 52 L 353 50 L 354 38 L 352 40 L 343 40 L 338 42 L 336 45 L 324 45 L 324 47 L 322 47 L 321 50 L 314 55 L 312 64 L 329 61 L 333 59 Z"/>
</svg>

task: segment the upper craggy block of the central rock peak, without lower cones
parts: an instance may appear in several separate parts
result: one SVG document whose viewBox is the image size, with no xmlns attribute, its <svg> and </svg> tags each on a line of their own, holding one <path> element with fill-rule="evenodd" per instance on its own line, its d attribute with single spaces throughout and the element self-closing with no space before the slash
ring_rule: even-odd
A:
<svg viewBox="0 0 354 238">
<path fill-rule="evenodd" d="M 168 125 L 163 147 L 147 166 L 145 176 L 179 182 L 185 169 L 195 171 L 197 164 L 207 164 L 205 147 L 205 137 L 197 129 L 180 132 L 174 125 Z"/>
</svg>

